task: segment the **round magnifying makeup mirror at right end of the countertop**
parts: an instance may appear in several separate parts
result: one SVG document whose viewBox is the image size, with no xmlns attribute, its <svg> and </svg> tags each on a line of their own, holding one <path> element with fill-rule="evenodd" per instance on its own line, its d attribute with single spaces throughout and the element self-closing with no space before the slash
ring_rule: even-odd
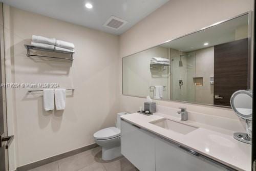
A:
<svg viewBox="0 0 256 171">
<path fill-rule="evenodd" d="M 234 112 L 243 119 L 252 118 L 252 92 L 239 90 L 232 94 L 230 104 Z"/>
</svg>

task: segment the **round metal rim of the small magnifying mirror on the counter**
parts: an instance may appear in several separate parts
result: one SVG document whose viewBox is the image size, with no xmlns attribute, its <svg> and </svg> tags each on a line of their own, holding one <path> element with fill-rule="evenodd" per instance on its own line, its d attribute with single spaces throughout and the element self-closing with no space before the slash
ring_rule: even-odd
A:
<svg viewBox="0 0 256 171">
<path fill-rule="evenodd" d="M 244 115 L 242 113 L 240 113 L 237 108 L 234 107 L 234 98 L 239 95 L 239 94 L 246 94 L 248 96 L 251 97 L 251 103 L 252 103 L 252 92 L 250 90 L 238 90 L 236 92 L 234 92 L 230 98 L 230 104 L 231 104 L 231 108 L 232 110 L 234 111 L 234 113 L 236 113 L 240 118 L 243 118 L 243 119 L 248 119 L 248 120 L 251 120 L 252 119 L 252 112 L 250 115 Z M 249 116 L 249 117 L 248 117 Z"/>
</svg>

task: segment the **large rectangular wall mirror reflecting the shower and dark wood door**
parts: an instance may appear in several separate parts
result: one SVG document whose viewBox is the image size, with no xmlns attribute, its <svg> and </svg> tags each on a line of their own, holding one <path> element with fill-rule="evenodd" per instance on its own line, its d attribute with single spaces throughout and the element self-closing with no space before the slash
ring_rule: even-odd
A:
<svg viewBox="0 0 256 171">
<path fill-rule="evenodd" d="M 250 13 L 122 58 L 123 95 L 230 106 L 250 89 Z"/>
</svg>

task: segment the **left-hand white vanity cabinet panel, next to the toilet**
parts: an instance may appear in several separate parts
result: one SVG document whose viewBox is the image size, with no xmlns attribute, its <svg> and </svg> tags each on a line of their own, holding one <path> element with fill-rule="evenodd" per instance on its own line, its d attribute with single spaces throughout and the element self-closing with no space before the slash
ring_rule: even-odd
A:
<svg viewBox="0 0 256 171">
<path fill-rule="evenodd" d="M 155 170 L 155 135 L 121 121 L 121 154 L 140 171 Z"/>
</svg>

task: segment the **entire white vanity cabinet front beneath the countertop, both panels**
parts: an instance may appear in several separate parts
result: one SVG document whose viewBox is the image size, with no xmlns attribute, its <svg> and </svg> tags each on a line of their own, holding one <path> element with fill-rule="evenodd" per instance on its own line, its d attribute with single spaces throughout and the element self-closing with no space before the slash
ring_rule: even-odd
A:
<svg viewBox="0 0 256 171">
<path fill-rule="evenodd" d="M 232 170 L 123 120 L 121 154 L 140 171 Z"/>
</svg>

